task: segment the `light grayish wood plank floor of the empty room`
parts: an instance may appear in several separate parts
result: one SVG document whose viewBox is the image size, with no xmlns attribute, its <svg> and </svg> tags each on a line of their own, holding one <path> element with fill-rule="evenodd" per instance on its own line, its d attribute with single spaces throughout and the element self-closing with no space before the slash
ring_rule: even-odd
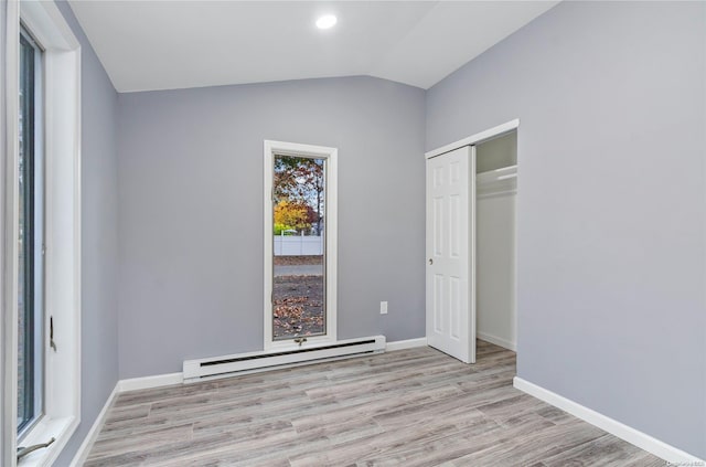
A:
<svg viewBox="0 0 706 467">
<path fill-rule="evenodd" d="M 664 466 L 431 348 L 124 393 L 86 466 Z"/>
</svg>

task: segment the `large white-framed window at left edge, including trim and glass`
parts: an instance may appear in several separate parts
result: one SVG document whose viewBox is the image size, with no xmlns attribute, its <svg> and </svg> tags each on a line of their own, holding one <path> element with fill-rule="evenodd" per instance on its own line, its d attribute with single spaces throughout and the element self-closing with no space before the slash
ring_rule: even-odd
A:
<svg viewBox="0 0 706 467">
<path fill-rule="evenodd" d="M 2 312 L 18 327 L 2 346 L 17 355 L 6 395 L 17 417 L 2 464 L 14 464 L 6 449 L 17 443 L 45 446 L 18 449 L 31 450 L 19 467 L 50 466 L 81 421 L 81 45 L 54 2 L 8 11 L 8 94 L 19 99 L 6 114 L 17 150 L 2 183 L 14 208 L 3 211 L 12 268 L 3 267 L 14 274 Z"/>
</svg>

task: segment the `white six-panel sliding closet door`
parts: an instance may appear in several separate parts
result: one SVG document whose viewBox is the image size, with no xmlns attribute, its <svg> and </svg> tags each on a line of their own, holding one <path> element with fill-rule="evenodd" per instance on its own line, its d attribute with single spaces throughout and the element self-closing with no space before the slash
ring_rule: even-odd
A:
<svg viewBox="0 0 706 467">
<path fill-rule="evenodd" d="M 427 159 L 427 342 L 475 362 L 475 148 Z"/>
</svg>

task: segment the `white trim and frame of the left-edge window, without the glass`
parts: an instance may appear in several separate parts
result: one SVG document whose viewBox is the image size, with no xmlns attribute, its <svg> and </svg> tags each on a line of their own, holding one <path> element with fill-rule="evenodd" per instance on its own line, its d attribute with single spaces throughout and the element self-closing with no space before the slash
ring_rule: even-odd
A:
<svg viewBox="0 0 706 467">
<path fill-rule="evenodd" d="M 45 50 L 46 183 L 44 416 L 20 444 L 29 446 L 55 438 L 50 447 L 35 450 L 18 464 L 29 467 L 52 465 L 81 422 L 81 44 L 54 2 L 24 0 L 19 3 L 22 22 Z M 17 60 L 13 63 L 19 66 Z M 15 170 L 6 177 L 13 187 L 13 202 L 17 200 L 17 146 L 11 157 Z M 6 220 L 14 230 L 18 225 L 15 204 L 11 205 L 11 219 Z M 9 241 L 6 247 L 6 257 L 17 258 L 17 242 Z M 17 259 L 13 261 L 10 305 L 17 322 Z M 56 352 L 49 347 L 50 316 L 54 317 Z M 12 341 L 6 344 L 17 347 L 17 329 Z M 12 420 L 17 420 L 18 396 L 17 351 L 14 354 Z M 17 434 L 14 436 L 12 448 L 18 446 Z M 15 465 L 14 457 L 10 465 Z"/>
</svg>

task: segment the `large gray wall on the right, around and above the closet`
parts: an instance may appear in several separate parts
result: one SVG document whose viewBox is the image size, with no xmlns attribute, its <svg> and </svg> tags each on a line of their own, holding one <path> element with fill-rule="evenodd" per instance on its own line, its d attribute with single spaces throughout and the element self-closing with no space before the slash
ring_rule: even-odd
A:
<svg viewBox="0 0 706 467">
<path fill-rule="evenodd" d="M 518 130 L 518 375 L 706 457 L 706 3 L 564 2 L 427 94 Z"/>
</svg>

